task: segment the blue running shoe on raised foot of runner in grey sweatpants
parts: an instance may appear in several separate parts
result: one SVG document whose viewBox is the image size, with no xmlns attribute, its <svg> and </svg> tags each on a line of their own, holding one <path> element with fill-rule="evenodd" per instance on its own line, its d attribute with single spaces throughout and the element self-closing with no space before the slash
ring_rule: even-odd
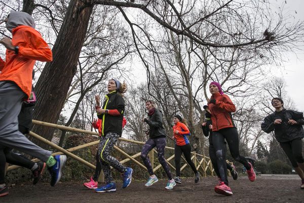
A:
<svg viewBox="0 0 304 203">
<path fill-rule="evenodd" d="M 54 156 L 56 159 L 55 165 L 48 168 L 51 174 L 51 186 L 54 187 L 61 178 L 61 170 L 65 164 L 66 156 L 65 155 L 56 155 Z"/>
</svg>

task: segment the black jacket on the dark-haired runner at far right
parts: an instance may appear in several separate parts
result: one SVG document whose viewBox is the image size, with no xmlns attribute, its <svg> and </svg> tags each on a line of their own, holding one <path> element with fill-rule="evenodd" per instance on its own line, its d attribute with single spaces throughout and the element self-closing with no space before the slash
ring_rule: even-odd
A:
<svg viewBox="0 0 304 203">
<path fill-rule="evenodd" d="M 292 111 L 292 110 L 282 110 L 283 118 L 277 115 L 275 111 L 271 115 L 264 118 L 261 124 L 261 128 L 264 132 L 270 133 L 275 130 L 275 138 L 278 142 L 284 143 L 289 142 L 294 139 L 301 139 L 304 137 L 304 130 L 302 125 L 304 124 L 304 118 L 302 112 Z M 281 124 L 275 124 L 276 119 L 282 119 Z M 296 121 L 296 124 L 288 124 L 288 120 L 292 119 Z"/>
</svg>

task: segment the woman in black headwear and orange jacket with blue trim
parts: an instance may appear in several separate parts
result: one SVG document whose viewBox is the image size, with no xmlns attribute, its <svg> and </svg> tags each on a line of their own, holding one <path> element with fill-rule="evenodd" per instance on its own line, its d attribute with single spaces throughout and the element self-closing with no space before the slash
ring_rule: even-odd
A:
<svg viewBox="0 0 304 203">
<path fill-rule="evenodd" d="M 174 178 L 174 181 L 176 183 L 181 183 L 180 157 L 183 153 L 187 163 L 191 166 L 192 171 L 195 174 L 194 181 L 195 183 L 198 183 L 200 180 L 200 174 L 191 160 L 191 145 L 187 139 L 187 136 L 190 135 L 190 131 L 187 127 L 187 123 L 180 115 L 174 116 L 173 123 L 173 139 L 176 141 L 174 146 L 176 177 Z"/>
</svg>

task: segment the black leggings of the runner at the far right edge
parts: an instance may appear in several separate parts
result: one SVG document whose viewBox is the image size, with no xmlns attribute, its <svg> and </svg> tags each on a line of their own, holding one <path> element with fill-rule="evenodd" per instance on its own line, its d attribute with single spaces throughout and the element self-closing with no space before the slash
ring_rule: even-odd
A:
<svg viewBox="0 0 304 203">
<path fill-rule="evenodd" d="M 280 143 L 280 145 L 293 167 L 297 167 L 297 163 L 304 163 L 302 156 L 302 139 L 295 139 L 289 142 Z"/>
</svg>

